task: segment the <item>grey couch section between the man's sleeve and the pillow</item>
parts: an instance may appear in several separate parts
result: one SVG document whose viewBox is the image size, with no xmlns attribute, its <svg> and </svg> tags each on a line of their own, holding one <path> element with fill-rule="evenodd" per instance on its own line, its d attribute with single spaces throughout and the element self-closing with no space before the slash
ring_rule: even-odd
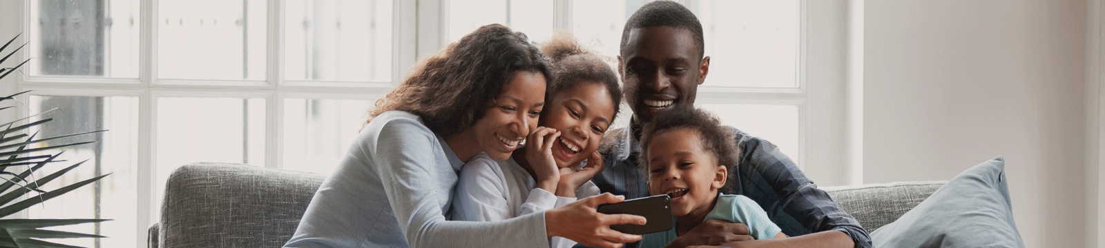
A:
<svg viewBox="0 0 1105 248">
<path fill-rule="evenodd" d="M 928 198 L 947 181 L 864 184 L 822 187 L 841 208 L 860 220 L 867 231 L 893 223 Z"/>
</svg>

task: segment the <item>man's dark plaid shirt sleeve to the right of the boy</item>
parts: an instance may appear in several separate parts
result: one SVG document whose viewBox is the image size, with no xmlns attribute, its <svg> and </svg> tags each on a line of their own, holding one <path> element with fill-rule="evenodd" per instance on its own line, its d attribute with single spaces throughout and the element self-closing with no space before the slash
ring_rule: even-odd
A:
<svg viewBox="0 0 1105 248">
<path fill-rule="evenodd" d="M 741 158 L 739 168 L 730 170 L 729 177 L 740 180 L 727 182 L 724 193 L 756 201 L 787 236 L 840 230 L 857 248 L 872 246 L 871 236 L 860 222 L 818 188 L 775 144 L 733 130 Z"/>
</svg>

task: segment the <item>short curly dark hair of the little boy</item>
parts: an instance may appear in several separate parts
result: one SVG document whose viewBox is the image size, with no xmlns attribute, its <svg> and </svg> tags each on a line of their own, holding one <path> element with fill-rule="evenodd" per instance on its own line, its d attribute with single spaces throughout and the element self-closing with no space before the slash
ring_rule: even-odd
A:
<svg viewBox="0 0 1105 248">
<path fill-rule="evenodd" d="M 718 166 L 726 166 L 729 172 L 733 172 L 740 162 L 741 152 L 736 141 L 733 140 L 732 128 L 722 126 L 722 121 L 706 110 L 676 107 L 661 112 L 651 123 L 645 123 L 642 129 L 641 154 L 638 155 L 638 165 L 645 174 L 649 174 L 649 145 L 652 138 L 678 128 L 694 130 L 698 134 L 698 139 L 702 140 L 703 150 L 709 151 L 714 158 L 717 158 Z"/>
</svg>

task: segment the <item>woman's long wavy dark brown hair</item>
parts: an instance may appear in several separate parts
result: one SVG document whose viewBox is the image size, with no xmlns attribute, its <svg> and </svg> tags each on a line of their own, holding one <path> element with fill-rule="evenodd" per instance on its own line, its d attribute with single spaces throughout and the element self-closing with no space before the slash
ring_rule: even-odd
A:
<svg viewBox="0 0 1105 248">
<path fill-rule="evenodd" d="M 518 72 L 552 78 L 549 63 L 526 34 L 501 24 L 480 26 L 456 43 L 420 60 L 398 87 L 376 101 L 368 121 L 391 110 L 422 118 L 448 137 L 483 118 Z"/>
</svg>

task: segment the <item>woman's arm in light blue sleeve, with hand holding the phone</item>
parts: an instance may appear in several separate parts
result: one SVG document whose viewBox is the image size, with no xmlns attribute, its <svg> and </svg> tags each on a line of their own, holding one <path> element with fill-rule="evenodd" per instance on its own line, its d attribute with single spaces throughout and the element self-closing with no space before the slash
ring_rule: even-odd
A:
<svg viewBox="0 0 1105 248">
<path fill-rule="evenodd" d="M 552 236 L 588 246 L 617 247 L 619 245 L 610 241 L 620 244 L 640 239 L 636 235 L 610 230 L 609 226 L 643 223 L 643 217 L 596 213 L 599 204 L 621 201 L 609 194 L 499 222 L 445 220 L 441 201 L 449 198 L 449 192 L 440 188 L 452 185 L 441 185 L 441 179 L 449 176 L 443 173 L 455 176 L 456 172 L 452 171 L 449 162 L 435 161 L 432 149 L 448 147 L 436 139 L 412 139 L 412 132 L 435 136 L 415 120 L 409 121 L 400 125 L 389 121 L 375 140 L 379 145 L 368 152 L 379 157 L 375 159 L 381 163 L 378 164 L 379 176 L 387 198 L 411 247 L 545 247 L 548 246 L 547 237 Z"/>
</svg>

